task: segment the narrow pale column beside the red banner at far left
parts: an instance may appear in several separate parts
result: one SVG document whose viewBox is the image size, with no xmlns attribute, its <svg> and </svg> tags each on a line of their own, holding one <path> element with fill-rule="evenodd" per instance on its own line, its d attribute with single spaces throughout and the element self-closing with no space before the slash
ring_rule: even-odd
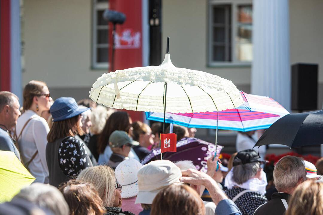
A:
<svg viewBox="0 0 323 215">
<path fill-rule="evenodd" d="M 10 91 L 19 97 L 22 106 L 21 73 L 21 38 L 20 38 L 20 1 L 10 1 Z"/>
</svg>

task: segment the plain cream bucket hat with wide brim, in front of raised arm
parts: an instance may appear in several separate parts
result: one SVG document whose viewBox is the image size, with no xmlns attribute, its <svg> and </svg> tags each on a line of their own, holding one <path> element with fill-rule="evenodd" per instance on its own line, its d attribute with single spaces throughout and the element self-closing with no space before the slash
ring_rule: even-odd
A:
<svg viewBox="0 0 323 215">
<path fill-rule="evenodd" d="M 180 182 L 182 172 L 172 161 L 151 161 L 138 171 L 139 192 L 135 204 L 152 204 L 164 187 Z"/>
</svg>

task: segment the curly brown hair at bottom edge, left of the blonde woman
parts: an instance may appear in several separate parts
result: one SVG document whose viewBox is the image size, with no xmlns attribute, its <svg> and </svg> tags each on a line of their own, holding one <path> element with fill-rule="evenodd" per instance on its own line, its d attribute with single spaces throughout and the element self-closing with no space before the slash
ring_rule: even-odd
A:
<svg viewBox="0 0 323 215">
<path fill-rule="evenodd" d="M 70 180 L 59 187 L 68 203 L 71 215 L 103 215 L 105 209 L 101 198 L 90 183 Z"/>
</svg>

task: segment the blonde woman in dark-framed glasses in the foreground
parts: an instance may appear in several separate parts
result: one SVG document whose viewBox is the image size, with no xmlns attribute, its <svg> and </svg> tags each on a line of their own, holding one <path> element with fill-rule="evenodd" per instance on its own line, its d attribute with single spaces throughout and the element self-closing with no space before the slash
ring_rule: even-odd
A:
<svg viewBox="0 0 323 215">
<path fill-rule="evenodd" d="M 109 166 L 94 166 L 82 170 L 77 177 L 78 181 L 88 182 L 94 185 L 103 200 L 106 214 L 133 215 L 129 211 L 122 211 L 121 189 L 122 186 L 116 181 L 114 171 Z"/>
</svg>

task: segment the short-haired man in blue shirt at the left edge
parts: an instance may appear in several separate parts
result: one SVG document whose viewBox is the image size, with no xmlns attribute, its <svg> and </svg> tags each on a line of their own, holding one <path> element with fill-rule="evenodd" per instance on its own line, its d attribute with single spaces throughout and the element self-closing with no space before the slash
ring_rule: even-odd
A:
<svg viewBox="0 0 323 215">
<path fill-rule="evenodd" d="M 21 161 L 20 153 L 10 136 L 10 130 L 16 126 L 21 115 L 19 107 L 18 97 L 14 93 L 0 92 L 0 150 L 15 152 Z"/>
</svg>

